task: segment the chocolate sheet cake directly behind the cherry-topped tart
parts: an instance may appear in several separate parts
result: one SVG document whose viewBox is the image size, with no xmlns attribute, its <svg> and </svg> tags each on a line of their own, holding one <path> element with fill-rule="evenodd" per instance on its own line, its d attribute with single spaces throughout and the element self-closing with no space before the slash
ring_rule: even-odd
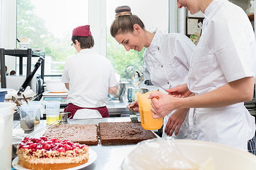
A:
<svg viewBox="0 0 256 170">
<path fill-rule="evenodd" d="M 97 125 L 54 125 L 43 134 L 47 138 L 68 139 L 71 142 L 98 145 Z"/>
</svg>

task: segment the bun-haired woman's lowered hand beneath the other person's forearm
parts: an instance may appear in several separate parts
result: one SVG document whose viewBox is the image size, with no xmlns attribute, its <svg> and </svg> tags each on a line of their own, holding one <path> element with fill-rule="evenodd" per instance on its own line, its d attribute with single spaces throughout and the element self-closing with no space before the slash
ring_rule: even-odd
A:
<svg viewBox="0 0 256 170">
<path fill-rule="evenodd" d="M 179 133 L 180 126 L 183 124 L 187 116 L 188 110 L 189 109 L 178 109 L 172 113 L 166 124 L 166 129 L 164 129 L 164 133 L 171 136 L 176 129 L 175 135 L 177 135 Z"/>
</svg>

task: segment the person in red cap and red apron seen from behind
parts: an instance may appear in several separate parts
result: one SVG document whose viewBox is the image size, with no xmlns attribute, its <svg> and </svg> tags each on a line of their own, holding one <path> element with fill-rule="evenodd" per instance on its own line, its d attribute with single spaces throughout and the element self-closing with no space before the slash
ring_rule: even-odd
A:
<svg viewBox="0 0 256 170">
<path fill-rule="evenodd" d="M 109 117 L 108 94 L 115 95 L 118 84 L 113 66 L 92 49 L 90 25 L 73 29 L 72 41 L 77 54 L 68 57 L 61 77 L 69 90 L 64 111 L 77 119 Z"/>
</svg>

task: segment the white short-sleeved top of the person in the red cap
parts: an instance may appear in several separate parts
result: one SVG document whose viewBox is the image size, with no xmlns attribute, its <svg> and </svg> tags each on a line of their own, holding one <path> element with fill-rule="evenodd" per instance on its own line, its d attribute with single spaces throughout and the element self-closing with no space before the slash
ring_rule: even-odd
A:
<svg viewBox="0 0 256 170">
<path fill-rule="evenodd" d="M 69 83 L 68 103 L 82 108 L 106 106 L 109 87 L 118 84 L 109 59 L 93 49 L 82 49 L 68 57 L 61 82 Z"/>
</svg>

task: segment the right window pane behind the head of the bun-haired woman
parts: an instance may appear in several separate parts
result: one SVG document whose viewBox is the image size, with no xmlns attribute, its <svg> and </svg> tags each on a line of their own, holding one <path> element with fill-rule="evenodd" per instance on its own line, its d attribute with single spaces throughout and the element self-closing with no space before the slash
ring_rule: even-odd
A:
<svg viewBox="0 0 256 170">
<path fill-rule="evenodd" d="M 115 72 L 121 75 L 121 78 L 130 79 L 131 74 L 129 70 L 127 70 L 127 67 L 133 66 L 135 71 L 141 70 L 141 66 L 143 66 L 144 63 L 143 53 L 145 48 L 143 48 L 141 52 L 135 50 L 126 52 L 123 45 L 118 44 L 110 35 L 110 26 L 115 18 L 115 8 L 123 5 L 131 7 L 132 14 L 137 15 L 142 20 L 147 31 L 158 31 L 160 33 L 168 33 L 169 5 L 168 0 L 108 0 L 108 3 L 106 3 L 106 56 L 112 62 Z"/>
</svg>

